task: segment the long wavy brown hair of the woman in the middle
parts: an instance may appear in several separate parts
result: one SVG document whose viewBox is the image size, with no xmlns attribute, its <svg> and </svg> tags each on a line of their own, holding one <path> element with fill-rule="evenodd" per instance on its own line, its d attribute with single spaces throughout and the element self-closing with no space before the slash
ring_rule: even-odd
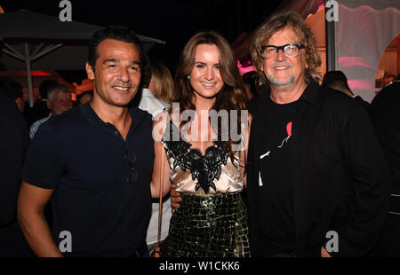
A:
<svg viewBox="0 0 400 275">
<path fill-rule="evenodd" d="M 192 36 L 188 43 L 185 45 L 181 55 L 178 67 L 175 73 L 175 87 L 172 95 L 172 102 L 180 104 L 180 114 L 185 110 L 196 110 L 195 106 L 195 93 L 190 85 L 188 75 L 195 67 L 196 61 L 196 47 L 199 44 L 214 44 L 217 46 L 220 55 L 220 75 L 224 82 L 220 92 L 216 95 L 216 100 L 212 106 L 212 110 L 219 112 L 220 110 L 227 110 L 229 115 L 230 123 L 230 110 L 237 110 L 238 120 L 236 129 L 241 130 L 240 122 L 240 110 L 244 110 L 247 96 L 244 90 L 244 83 L 242 76 L 239 73 L 237 67 L 237 61 L 233 55 L 233 51 L 229 46 L 229 43 L 218 33 L 214 31 L 199 32 Z M 170 109 L 172 114 L 172 109 Z M 247 118 L 245 118 L 247 120 Z M 187 122 L 180 122 L 180 126 L 183 126 Z M 220 134 L 219 129 L 218 133 Z M 230 126 L 230 125 L 229 125 Z M 228 127 L 228 129 L 230 129 Z M 228 134 L 229 144 L 232 144 L 230 138 L 230 131 Z"/>
</svg>

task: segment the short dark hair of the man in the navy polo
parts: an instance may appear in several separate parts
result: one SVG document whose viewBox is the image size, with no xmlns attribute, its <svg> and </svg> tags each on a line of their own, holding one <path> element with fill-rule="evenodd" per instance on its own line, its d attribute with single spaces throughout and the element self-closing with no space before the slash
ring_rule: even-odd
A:
<svg viewBox="0 0 400 275">
<path fill-rule="evenodd" d="M 138 36 L 135 35 L 134 31 L 132 31 L 132 29 L 129 29 L 128 27 L 109 26 L 95 32 L 89 43 L 89 53 L 87 61 L 92 67 L 93 72 L 95 70 L 96 59 L 99 58 L 97 48 L 99 47 L 100 43 L 106 39 L 114 39 L 125 43 L 134 43 L 139 50 L 140 67 L 143 67 L 146 63 L 147 60 L 143 58 L 144 54 L 140 39 L 138 38 Z"/>
</svg>

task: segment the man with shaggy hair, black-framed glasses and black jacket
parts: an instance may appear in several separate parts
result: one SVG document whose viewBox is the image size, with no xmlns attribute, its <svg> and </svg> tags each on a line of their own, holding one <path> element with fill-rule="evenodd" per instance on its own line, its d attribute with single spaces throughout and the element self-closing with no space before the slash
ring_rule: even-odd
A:
<svg viewBox="0 0 400 275">
<path fill-rule="evenodd" d="M 388 204 L 388 169 L 364 109 L 319 86 L 316 38 L 276 14 L 251 46 L 260 83 L 248 155 L 253 256 L 361 256 Z"/>
</svg>

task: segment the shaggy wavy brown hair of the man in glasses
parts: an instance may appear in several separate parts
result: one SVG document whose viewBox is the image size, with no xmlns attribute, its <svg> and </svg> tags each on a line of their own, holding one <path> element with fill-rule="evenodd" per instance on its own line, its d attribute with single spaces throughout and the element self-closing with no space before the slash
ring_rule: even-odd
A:
<svg viewBox="0 0 400 275">
<path fill-rule="evenodd" d="M 321 83 L 321 74 L 318 71 L 318 67 L 321 66 L 321 58 L 317 51 L 316 37 L 297 12 L 276 13 L 268 18 L 254 33 L 250 46 L 250 54 L 252 65 L 256 68 L 259 75 L 259 83 L 268 82 L 262 71 L 261 47 L 268 42 L 268 39 L 272 35 L 284 27 L 292 27 L 300 39 L 300 41 L 293 43 L 301 43 L 306 51 L 306 63 L 308 64 L 306 68 L 306 83 L 309 83 L 311 79 L 314 79 L 317 83 Z"/>
</svg>

